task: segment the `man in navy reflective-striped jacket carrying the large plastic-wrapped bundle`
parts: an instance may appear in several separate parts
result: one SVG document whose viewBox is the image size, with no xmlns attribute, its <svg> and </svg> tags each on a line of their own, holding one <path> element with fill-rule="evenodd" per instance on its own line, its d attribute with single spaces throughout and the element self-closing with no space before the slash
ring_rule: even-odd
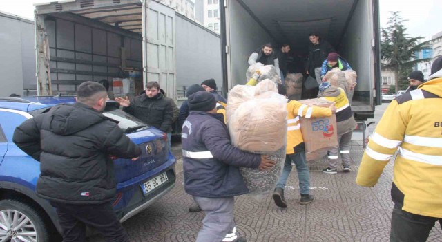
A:
<svg viewBox="0 0 442 242">
<path fill-rule="evenodd" d="M 206 213 L 196 241 L 238 241 L 234 196 L 249 193 L 239 167 L 266 170 L 275 162 L 231 144 L 213 95 L 198 91 L 188 101 L 190 114 L 181 133 L 184 189 Z"/>
</svg>

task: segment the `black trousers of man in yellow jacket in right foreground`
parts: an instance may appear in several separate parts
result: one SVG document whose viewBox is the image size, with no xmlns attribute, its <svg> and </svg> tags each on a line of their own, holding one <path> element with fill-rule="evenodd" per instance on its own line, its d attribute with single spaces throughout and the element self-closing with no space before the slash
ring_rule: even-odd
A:
<svg viewBox="0 0 442 242">
<path fill-rule="evenodd" d="M 425 242 L 438 220 L 442 227 L 442 218 L 411 214 L 395 205 L 392 214 L 390 242 Z"/>
</svg>

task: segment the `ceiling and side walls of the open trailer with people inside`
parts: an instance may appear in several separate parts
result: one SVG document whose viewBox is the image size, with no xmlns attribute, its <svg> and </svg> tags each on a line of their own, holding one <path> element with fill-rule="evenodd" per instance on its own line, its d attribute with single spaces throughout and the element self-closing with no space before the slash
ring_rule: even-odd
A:
<svg viewBox="0 0 442 242">
<path fill-rule="evenodd" d="M 234 53 L 238 51 L 238 55 L 247 57 L 265 42 L 272 41 L 278 45 L 290 44 L 291 53 L 302 56 L 305 61 L 310 44 L 309 33 L 317 33 L 322 39 L 329 41 L 358 74 L 352 105 L 367 106 L 367 111 L 371 109 L 369 91 L 374 88 L 374 73 L 365 68 L 374 61 L 373 16 L 369 15 L 371 10 L 367 11 L 367 8 L 373 8 L 371 1 L 235 0 L 229 3 L 231 24 L 227 31 L 232 46 L 231 55 L 236 55 Z M 252 23 L 257 27 L 244 27 L 251 26 Z M 242 40 L 246 38 L 253 38 L 247 41 L 247 45 L 253 46 L 236 44 L 247 43 Z M 236 47 L 233 47 L 233 43 Z M 238 59 L 244 62 L 244 58 Z M 247 69 L 247 66 L 242 66 L 239 62 L 231 63 L 231 66 Z M 235 71 L 232 70 L 233 78 L 243 80 L 243 71 L 234 73 Z"/>
</svg>

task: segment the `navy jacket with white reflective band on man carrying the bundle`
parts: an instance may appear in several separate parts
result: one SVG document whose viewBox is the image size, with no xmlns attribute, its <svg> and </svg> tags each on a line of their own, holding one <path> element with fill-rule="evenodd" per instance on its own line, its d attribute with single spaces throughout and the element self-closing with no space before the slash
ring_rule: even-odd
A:
<svg viewBox="0 0 442 242">
<path fill-rule="evenodd" d="M 182 127 L 181 140 L 188 194 L 215 198 L 249 192 L 239 167 L 256 168 L 261 157 L 231 144 L 221 114 L 191 111 Z"/>
</svg>

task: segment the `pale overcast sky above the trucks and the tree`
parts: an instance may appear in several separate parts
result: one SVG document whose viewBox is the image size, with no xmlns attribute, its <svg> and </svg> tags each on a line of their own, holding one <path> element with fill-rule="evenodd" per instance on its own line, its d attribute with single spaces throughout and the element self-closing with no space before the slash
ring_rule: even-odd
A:
<svg viewBox="0 0 442 242">
<path fill-rule="evenodd" d="M 0 11 L 14 15 L 34 18 L 33 3 L 47 3 L 55 0 L 0 0 Z M 302 0 L 303 1 L 303 0 Z M 320 0 L 316 0 L 320 1 Z M 327 0 L 322 0 L 327 1 Z M 365 0 L 363 0 L 365 1 Z M 400 11 L 410 37 L 432 37 L 442 31 L 440 15 L 442 14 L 441 0 L 379 0 L 381 3 L 381 26 L 387 24 L 389 11 Z"/>
</svg>

